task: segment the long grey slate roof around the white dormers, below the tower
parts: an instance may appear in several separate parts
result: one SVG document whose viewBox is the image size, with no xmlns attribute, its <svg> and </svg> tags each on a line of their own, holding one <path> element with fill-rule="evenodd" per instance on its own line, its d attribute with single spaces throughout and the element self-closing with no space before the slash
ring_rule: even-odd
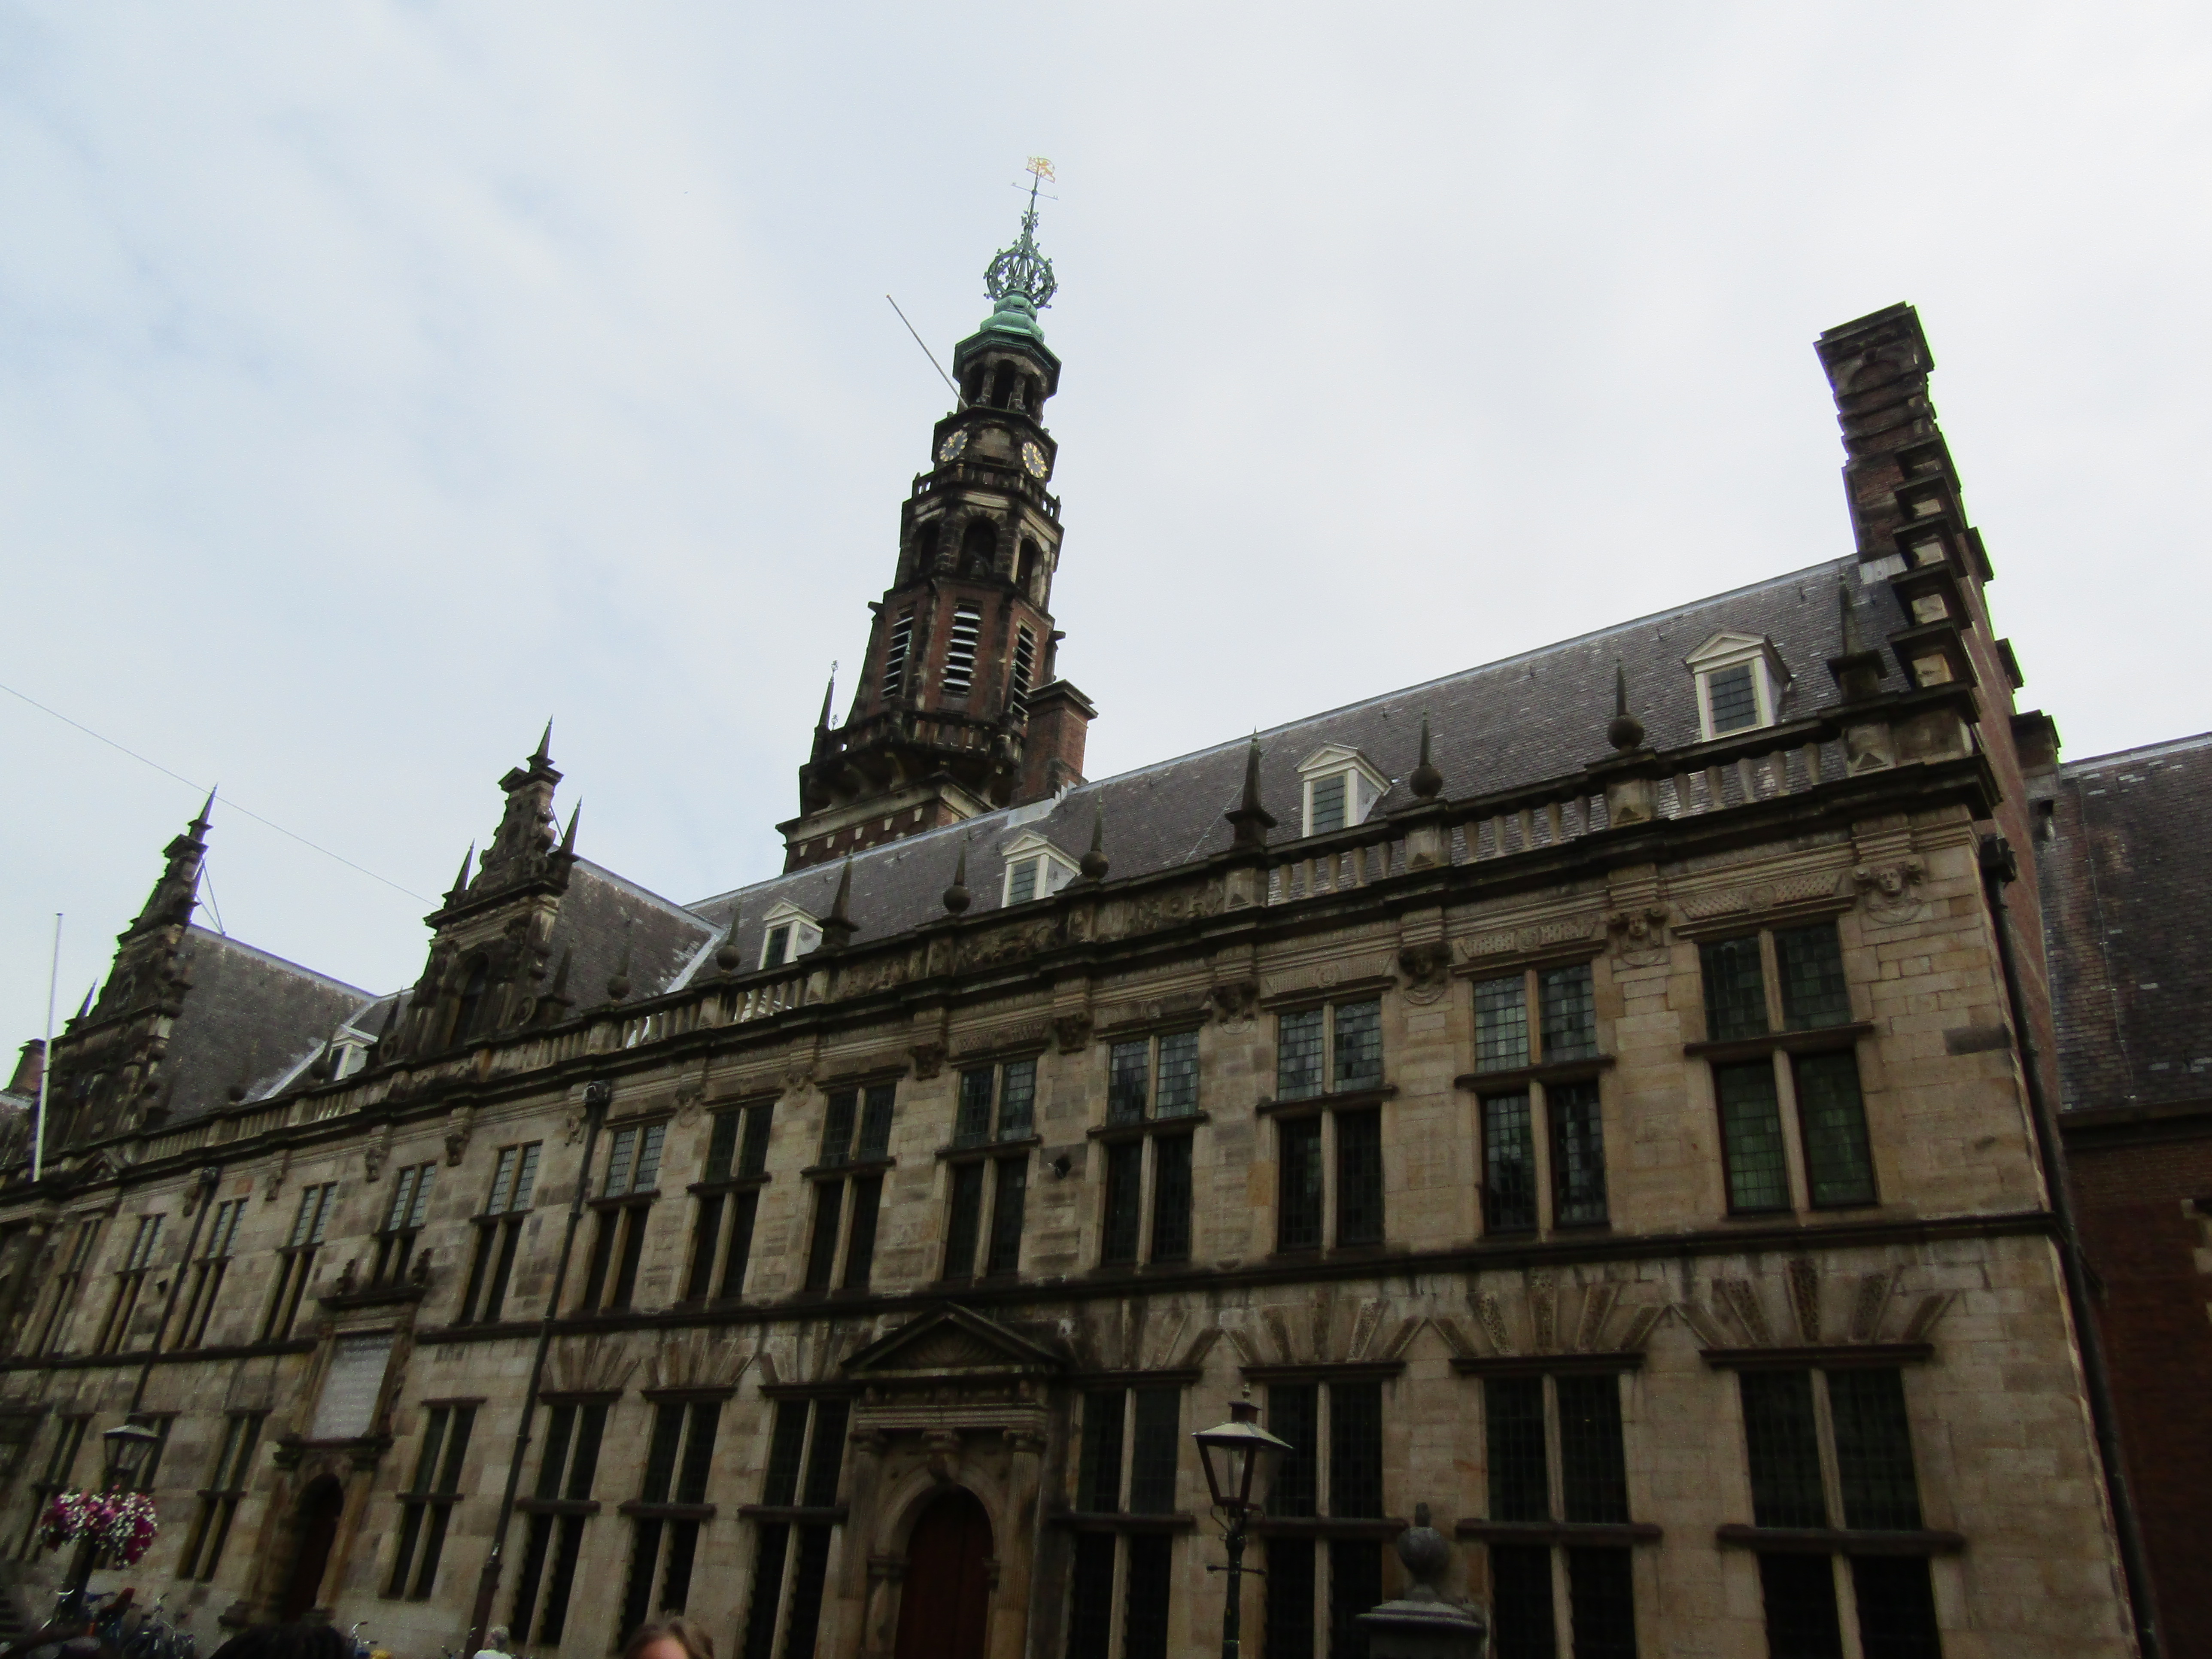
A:
<svg viewBox="0 0 2212 1659">
<path fill-rule="evenodd" d="M 1615 666 L 1628 677 L 1628 703 L 1657 750 L 1694 743 L 1697 690 L 1683 659 L 1717 633 L 1765 635 L 1790 684 L 1776 717 L 1803 719 L 1838 701 L 1827 659 L 1840 653 L 1836 584 L 1849 582 L 1858 628 L 1882 639 L 1905 626 L 1887 584 L 1863 584 L 1858 560 L 1823 564 L 1717 593 L 1674 611 L 1637 617 L 1599 633 L 1387 692 L 1363 703 L 1312 714 L 1259 734 L 1261 801 L 1281 825 L 1272 841 L 1294 841 L 1301 825 L 1298 765 L 1340 743 L 1360 750 L 1391 787 L 1374 812 L 1413 801 L 1405 779 L 1420 759 L 1420 717 L 1429 714 L 1433 761 L 1447 796 L 1489 794 L 1577 772 L 1606 752 L 1604 712 L 1613 708 Z M 1893 661 L 1882 664 L 1882 690 L 1902 690 Z M 1248 737 L 1197 754 L 1084 783 L 1057 801 L 989 812 L 929 830 L 852 858 L 856 940 L 880 940 L 938 920 L 960 841 L 969 841 L 967 885 L 975 909 L 995 909 L 1004 891 L 1002 852 L 1042 834 L 1071 860 L 1091 845 L 1093 816 L 1104 810 L 1113 874 L 1141 876 L 1208 858 L 1230 847 L 1223 812 L 1243 790 Z M 741 911 L 737 947 L 745 967 L 761 958 L 763 916 L 790 902 L 825 916 L 838 869 L 816 867 L 703 898 L 690 909 L 728 927 Z"/>
</svg>

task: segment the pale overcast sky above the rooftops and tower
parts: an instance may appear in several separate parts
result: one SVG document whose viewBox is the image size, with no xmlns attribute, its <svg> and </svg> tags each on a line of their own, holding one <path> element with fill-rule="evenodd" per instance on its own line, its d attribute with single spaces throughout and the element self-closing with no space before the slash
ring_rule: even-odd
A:
<svg viewBox="0 0 2212 1659">
<path fill-rule="evenodd" d="M 420 896 L 549 714 L 586 856 L 772 874 L 947 409 L 883 296 L 949 356 L 1046 155 L 1093 776 L 1849 551 L 1812 338 L 1900 299 L 2024 706 L 2179 737 L 2208 58 L 2203 4 L 7 0 L 0 686 Z M 0 757 L 11 1051 L 197 796 L 15 695 Z M 425 898 L 239 812 L 210 878 L 420 971 Z"/>
</svg>

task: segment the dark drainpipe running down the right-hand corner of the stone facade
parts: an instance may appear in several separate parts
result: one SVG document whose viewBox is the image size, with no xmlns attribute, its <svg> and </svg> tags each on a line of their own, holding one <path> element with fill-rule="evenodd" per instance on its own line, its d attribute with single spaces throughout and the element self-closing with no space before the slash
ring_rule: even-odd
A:
<svg viewBox="0 0 2212 1659">
<path fill-rule="evenodd" d="M 2051 1217 L 2059 1230 L 2057 1245 L 2059 1267 L 2066 1274 L 2066 1305 L 2073 1312 L 2075 1334 L 2081 1343 L 2081 1380 L 2088 1387 L 2088 1416 L 2097 1433 L 2097 1458 L 2104 1464 L 2104 1484 L 2112 1500 L 2112 1524 L 2119 1531 L 2119 1566 L 2128 1577 L 2128 1606 L 2135 1613 L 2135 1632 L 2143 1659 L 2161 1659 L 2163 1637 L 2152 1595 L 2150 1559 L 2143 1551 L 2143 1531 L 2128 1489 L 2128 1464 L 2119 1449 L 2119 1411 L 2112 1405 L 2112 1376 L 2106 1367 L 2104 1332 L 2097 1327 L 2097 1298 L 2090 1290 L 2081 1230 L 2075 1219 L 2066 1148 L 2057 1119 L 2051 1115 L 2051 1097 L 2044 1093 L 2044 1073 L 2035 1053 L 2035 1029 L 2028 1024 L 2026 998 L 2020 991 L 2013 918 L 2004 907 L 2004 889 L 2020 880 L 2020 858 L 2004 836 L 1982 836 L 1980 852 L 1982 894 L 1989 900 L 1989 920 L 1997 933 L 1997 964 L 2004 971 L 2004 998 L 2011 1004 L 2013 1033 L 2020 1044 L 2020 1073 L 2028 1088 L 2028 1121 L 2035 1124 L 2035 1150 L 2044 1161 L 2044 1179 L 2051 1188 Z"/>
</svg>

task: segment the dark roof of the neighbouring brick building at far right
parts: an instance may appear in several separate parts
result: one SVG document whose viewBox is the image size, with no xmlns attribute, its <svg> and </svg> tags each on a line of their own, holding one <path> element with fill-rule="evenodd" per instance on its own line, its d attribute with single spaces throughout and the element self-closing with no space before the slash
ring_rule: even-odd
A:
<svg viewBox="0 0 2212 1659">
<path fill-rule="evenodd" d="M 2035 858 L 2062 1106 L 2212 1099 L 2212 732 L 2059 768 Z"/>
</svg>

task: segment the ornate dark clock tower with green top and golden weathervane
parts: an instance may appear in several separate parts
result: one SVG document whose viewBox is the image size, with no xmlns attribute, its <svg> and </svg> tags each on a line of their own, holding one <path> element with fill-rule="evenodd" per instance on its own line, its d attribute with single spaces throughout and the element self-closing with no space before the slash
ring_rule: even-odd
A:
<svg viewBox="0 0 2212 1659">
<path fill-rule="evenodd" d="M 1051 177 L 1042 161 L 1031 173 Z M 1060 358 L 1037 312 L 1057 281 L 1035 232 L 1031 184 L 1022 234 L 984 272 L 991 316 L 953 347 L 958 407 L 900 507 L 898 568 L 869 606 L 852 708 L 832 728 L 823 701 L 799 816 L 776 825 L 785 869 L 1082 783 L 1095 710 L 1055 672 L 1060 498 L 1046 489 L 1057 445 L 1044 403 Z"/>
</svg>

